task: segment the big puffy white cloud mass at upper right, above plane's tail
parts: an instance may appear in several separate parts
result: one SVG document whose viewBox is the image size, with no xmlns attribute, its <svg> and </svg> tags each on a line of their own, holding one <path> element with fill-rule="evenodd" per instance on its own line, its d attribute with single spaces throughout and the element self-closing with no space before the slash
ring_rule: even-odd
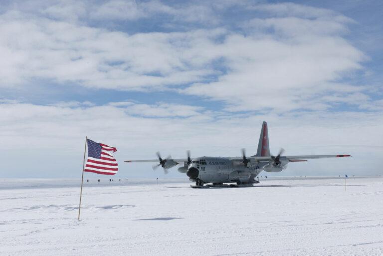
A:
<svg viewBox="0 0 383 256">
<path fill-rule="evenodd" d="M 230 34 L 218 46 L 228 71 L 216 81 L 195 83 L 184 92 L 225 101 L 231 111 L 330 108 L 334 102 L 329 97 L 327 101 L 318 99 L 325 99 L 322 96 L 329 93 L 350 97 L 343 89 L 358 87 L 345 85 L 342 80 L 362 71 L 361 63 L 367 57 L 341 37 L 347 32 L 349 20 L 333 20 L 333 12 L 329 13 L 331 16 L 320 10 L 310 19 L 288 16 L 250 20 L 243 25 L 246 36 Z"/>
</svg>

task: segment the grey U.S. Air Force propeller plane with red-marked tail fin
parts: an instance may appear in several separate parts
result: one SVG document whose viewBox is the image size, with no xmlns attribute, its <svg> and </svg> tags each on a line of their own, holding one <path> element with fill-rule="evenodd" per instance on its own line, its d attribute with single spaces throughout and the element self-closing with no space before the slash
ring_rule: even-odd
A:
<svg viewBox="0 0 383 256">
<path fill-rule="evenodd" d="M 350 157 L 350 155 L 282 156 L 283 152 L 284 150 L 281 149 L 277 156 L 270 154 L 267 123 L 263 122 L 257 153 L 250 157 L 246 157 L 245 149 L 242 149 L 242 157 L 203 156 L 195 159 L 191 159 L 190 151 L 187 151 L 187 158 L 182 159 L 172 159 L 171 156 L 163 159 L 160 153 L 157 152 L 158 159 L 127 160 L 125 162 L 159 162 L 159 164 L 153 166 L 153 169 L 162 166 L 165 174 L 168 173 L 168 169 L 183 163 L 178 168 L 178 171 L 186 173 L 189 179 L 195 182 L 195 186 L 192 185 L 191 187 L 205 188 L 252 186 L 254 183 L 259 183 L 255 178 L 258 177 L 260 172 L 281 172 L 287 168 L 287 164 L 290 162 L 305 162 L 307 159 L 318 158 Z M 232 184 L 228 185 L 227 183 Z"/>
</svg>

